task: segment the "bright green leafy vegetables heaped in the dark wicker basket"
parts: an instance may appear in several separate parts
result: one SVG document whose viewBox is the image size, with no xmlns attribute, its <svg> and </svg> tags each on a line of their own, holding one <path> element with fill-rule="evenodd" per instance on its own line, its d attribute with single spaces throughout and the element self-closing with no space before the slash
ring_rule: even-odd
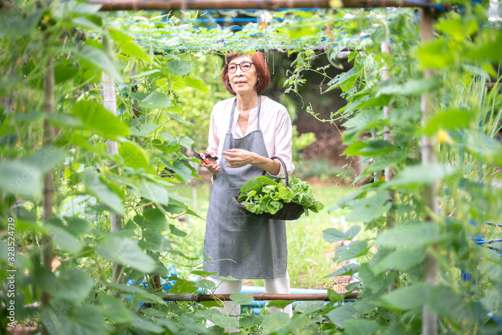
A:
<svg viewBox="0 0 502 335">
<path fill-rule="evenodd" d="M 240 188 L 242 194 L 238 201 L 246 205 L 250 212 L 261 214 L 269 212 L 275 214 L 283 207 L 283 202 L 296 202 L 305 209 L 308 216 L 309 209 L 318 213 L 324 208 L 321 201 L 314 198 L 312 188 L 301 179 L 290 177 L 289 188 L 286 179 L 272 176 L 254 177 Z"/>
</svg>

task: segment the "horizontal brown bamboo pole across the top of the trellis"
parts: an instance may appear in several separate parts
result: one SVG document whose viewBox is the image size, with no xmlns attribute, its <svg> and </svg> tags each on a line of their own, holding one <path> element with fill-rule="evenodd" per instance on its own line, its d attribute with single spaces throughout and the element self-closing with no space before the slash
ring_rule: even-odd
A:
<svg viewBox="0 0 502 335">
<path fill-rule="evenodd" d="M 373 7 L 430 7 L 428 1 L 396 0 L 92 0 L 87 3 L 101 5 L 101 11 L 170 11 L 170 10 L 222 10 L 278 8 L 373 8 Z M 449 5 L 443 5 L 448 9 Z"/>
</svg>

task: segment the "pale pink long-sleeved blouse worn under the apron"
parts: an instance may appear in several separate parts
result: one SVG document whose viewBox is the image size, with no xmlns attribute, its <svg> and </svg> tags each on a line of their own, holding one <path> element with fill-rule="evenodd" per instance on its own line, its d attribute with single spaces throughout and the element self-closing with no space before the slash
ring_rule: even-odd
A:
<svg viewBox="0 0 502 335">
<path fill-rule="evenodd" d="M 234 97 L 216 103 L 211 111 L 211 121 L 209 124 L 209 150 L 217 152 L 217 156 L 221 158 L 223 150 L 223 142 L 228 130 L 230 114 L 232 112 L 232 104 Z M 242 138 L 247 134 L 257 129 L 258 107 L 249 111 L 249 120 L 247 122 L 246 133 L 242 134 L 240 127 L 237 124 L 240 112 L 235 107 L 232 120 L 232 128 L 230 130 L 232 136 L 236 139 Z M 291 161 L 293 155 L 293 127 L 291 118 L 289 117 L 286 107 L 279 102 L 270 98 L 266 98 L 262 102 L 260 111 L 260 128 L 262 130 L 265 147 L 269 158 L 279 156 L 286 163 L 288 174 L 291 175 L 295 169 L 295 165 Z M 284 178 L 283 168 L 276 177 Z"/>
</svg>

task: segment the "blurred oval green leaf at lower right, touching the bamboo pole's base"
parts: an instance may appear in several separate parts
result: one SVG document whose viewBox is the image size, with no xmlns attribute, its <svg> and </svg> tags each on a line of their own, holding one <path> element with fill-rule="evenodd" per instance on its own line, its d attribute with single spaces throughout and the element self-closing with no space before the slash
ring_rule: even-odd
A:
<svg viewBox="0 0 502 335">
<path fill-rule="evenodd" d="M 432 288 L 424 282 L 414 283 L 400 287 L 389 294 L 384 295 L 381 306 L 400 311 L 409 309 L 421 309 L 429 300 Z"/>
</svg>

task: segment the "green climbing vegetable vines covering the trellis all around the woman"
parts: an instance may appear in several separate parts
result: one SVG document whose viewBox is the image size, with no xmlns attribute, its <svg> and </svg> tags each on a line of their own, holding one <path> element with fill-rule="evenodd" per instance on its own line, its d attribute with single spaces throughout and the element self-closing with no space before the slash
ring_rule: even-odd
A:
<svg viewBox="0 0 502 335">
<path fill-rule="evenodd" d="M 413 9 L 274 12 L 281 20 L 266 27 L 249 24 L 245 34 L 236 34 L 243 41 L 266 32 L 271 44 L 286 40 L 296 47 L 289 51 L 298 56 L 288 70 L 286 90 L 305 83 L 304 71 L 326 69 L 310 68 L 315 46 L 298 42 L 299 37 L 370 37 L 327 47 L 332 64 L 326 66 L 336 66 L 344 49 L 350 50 L 354 66 L 326 78 L 329 88 L 322 93 L 340 87 L 348 103 L 333 111 L 332 120 L 320 122 L 344 122 L 345 154 L 370 162 L 361 177 L 374 179 L 336 206 L 353 209 L 348 221 L 380 232 L 364 240 L 356 238 L 359 226 L 323 232 L 327 243 L 352 241 L 337 250 L 334 261 L 356 259 L 358 264 L 326 275 L 356 276 L 360 281 L 347 288 L 361 290 L 357 301 L 342 305 L 342 296 L 330 290 L 331 302 L 298 304 L 292 319 L 263 312 L 238 323 L 206 308 L 218 302 L 162 299 L 163 280 L 176 280 L 170 293 L 214 289 L 208 281 L 195 283 L 167 269 L 178 258 L 191 260 L 169 243 L 170 236 L 185 235 L 174 218 L 197 215 L 185 204 L 188 199 L 170 191 L 198 177 L 184 154 L 193 141 L 172 131 L 189 119 L 177 93 L 207 91 L 192 66 L 194 55 L 156 54 L 153 42 L 144 48 L 124 30 L 106 25 L 135 17 L 136 27 L 166 28 L 156 23 L 157 14 L 103 14 L 97 6 L 71 1 L 23 2 L 12 9 L 4 4 L 0 277 L 6 283 L 12 275 L 8 253 L 13 248 L 17 271 L 15 296 L 4 285 L 0 297 L 5 306 L 14 301 L 16 319 L 34 319 L 50 334 L 209 334 L 233 326 L 243 333 L 403 334 L 421 333 L 426 306 L 427 313 L 437 315 L 434 326 L 441 333 L 500 330 L 500 256 L 471 239 L 500 236 L 498 226 L 484 223 L 502 223 L 497 186 L 502 147 L 494 139 L 502 114 L 500 93 L 479 85 L 499 78 L 502 33 L 488 23 L 483 4 L 455 2 L 454 10 L 436 19 L 436 39 L 426 42 L 419 42 Z M 194 18 L 200 13 L 163 15 Z M 94 38 L 79 39 L 74 28 L 92 31 Z M 215 35 L 216 45 L 222 35 Z M 381 49 L 386 41 L 392 41 L 390 55 Z M 195 35 L 184 43 L 208 52 Z M 231 51 L 238 44 L 218 48 Z M 383 80 L 384 67 L 390 79 Z M 426 69 L 435 74 L 424 79 Z M 119 116 L 101 103 L 106 102 L 105 76 L 116 81 Z M 428 95 L 421 101 L 424 92 Z M 425 102 L 432 114 L 422 123 L 420 104 Z M 391 107 L 389 118 L 383 117 L 384 106 Z M 437 162 L 420 164 L 422 136 L 433 139 Z M 116 153 L 107 150 L 113 143 Z M 389 167 L 394 178 L 382 176 Z M 440 211 L 429 205 L 434 197 L 426 192 L 435 184 Z M 116 217 L 118 231 L 110 228 Z M 12 220 L 16 230 L 10 234 Z M 434 282 L 425 280 L 431 261 L 437 263 Z M 206 276 L 206 270 L 188 271 Z M 248 300 L 240 294 L 232 299 Z M 3 308 L 2 329 L 11 322 L 8 317 Z M 206 329 L 206 319 L 217 326 Z"/>
</svg>

